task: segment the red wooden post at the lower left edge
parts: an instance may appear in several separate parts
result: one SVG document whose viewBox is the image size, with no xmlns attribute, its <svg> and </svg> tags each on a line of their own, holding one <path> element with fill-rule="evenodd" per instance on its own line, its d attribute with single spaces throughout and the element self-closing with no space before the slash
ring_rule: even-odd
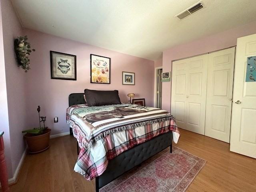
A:
<svg viewBox="0 0 256 192">
<path fill-rule="evenodd" d="M 8 186 L 8 173 L 4 156 L 4 140 L 2 136 L 3 134 L 3 132 L 1 132 L 0 134 L 0 182 L 2 186 L 2 192 L 9 192 L 10 189 Z"/>
</svg>

